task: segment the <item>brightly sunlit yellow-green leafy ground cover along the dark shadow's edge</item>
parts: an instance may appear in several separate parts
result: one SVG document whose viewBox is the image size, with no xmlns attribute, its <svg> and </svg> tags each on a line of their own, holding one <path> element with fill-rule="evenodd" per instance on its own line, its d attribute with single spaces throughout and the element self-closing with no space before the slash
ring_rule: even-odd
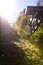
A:
<svg viewBox="0 0 43 65">
<path fill-rule="evenodd" d="M 13 43 L 25 52 L 25 59 L 28 65 L 42 65 L 41 51 L 35 44 L 31 44 L 28 40 L 20 40 L 20 42 Z"/>
</svg>

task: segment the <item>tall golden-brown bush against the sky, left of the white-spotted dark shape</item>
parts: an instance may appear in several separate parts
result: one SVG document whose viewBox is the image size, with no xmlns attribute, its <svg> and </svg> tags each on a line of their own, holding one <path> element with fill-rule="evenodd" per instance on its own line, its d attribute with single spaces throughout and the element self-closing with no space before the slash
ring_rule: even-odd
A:
<svg viewBox="0 0 43 65">
<path fill-rule="evenodd" d="M 16 20 L 15 26 L 20 38 L 26 38 L 29 36 L 28 32 L 30 28 L 29 28 L 28 22 L 30 17 L 31 17 L 30 15 L 26 16 L 24 13 L 22 13 L 22 15 L 20 14 Z"/>
</svg>

